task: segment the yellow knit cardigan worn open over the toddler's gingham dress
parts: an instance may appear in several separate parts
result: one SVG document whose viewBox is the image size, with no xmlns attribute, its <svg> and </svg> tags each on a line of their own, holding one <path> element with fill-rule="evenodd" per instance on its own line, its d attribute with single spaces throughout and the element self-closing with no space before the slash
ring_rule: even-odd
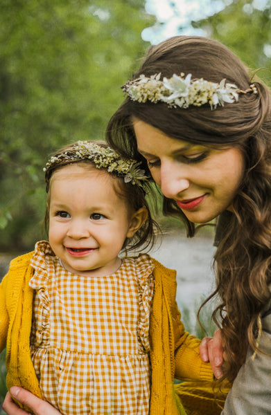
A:
<svg viewBox="0 0 271 415">
<path fill-rule="evenodd" d="M 30 357 L 30 328 L 33 306 L 33 289 L 28 283 L 33 276 L 30 259 L 33 252 L 13 259 L 10 269 L 0 285 L 0 351 L 6 347 L 7 386 L 21 386 L 42 398 L 39 382 Z M 213 374 L 209 364 L 200 359 L 200 340 L 184 331 L 180 312 L 175 302 L 175 271 L 165 268 L 153 259 L 155 264 L 155 294 L 150 318 L 150 364 L 151 396 L 150 415 L 185 414 L 180 403 L 182 394 L 193 398 L 197 408 L 189 414 L 205 414 L 206 399 L 200 399 L 189 385 L 175 392 L 173 379 L 200 380 L 200 388 L 207 390 L 209 401 L 213 400 L 211 380 Z M 204 386 L 207 381 L 207 386 Z M 191 384 L 192 385 L 192 384 Z M 181 385 L 182 386 L 182 385 Z M 184 388 L 185 389 L 185 388 Z M 199 389 L 200 390 L 200 389 Z M 210 398 L 211 397 L 211 398 Z M 203 405 L 203 406 L 202 406 Z M 190 405 L 191 406 L 191 405 Z M 194 410 L 195 409 L 195 410 Z M 206 407 L 205 407 L 206 409 Z M 219 412 L 208 412 L 216 414 Z"/>
</svg>

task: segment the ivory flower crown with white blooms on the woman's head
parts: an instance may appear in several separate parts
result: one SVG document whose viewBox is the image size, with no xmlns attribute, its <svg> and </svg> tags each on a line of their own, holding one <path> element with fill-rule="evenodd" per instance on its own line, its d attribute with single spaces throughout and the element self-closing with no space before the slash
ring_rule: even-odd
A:
<svg viewBox="0 0 271 415">
<path fill-rule="evenodd" d="M 163 77 L 161 73 L 146 77 L 140 75 L 137 79 L 128 81 L 121 89 L 133 101 L 157 103 L 166 102 L 168 107 L 188 108 L 189 105 L 201 107 L 210 104 L 211 109 L 216 109 L 218 105 L 224 106 L 224 102 L 237 102 L 238 93 L 258 93 L 254 84 L 250 89 L 243 91 L 234 84 L 229 84 L 222 80 L 220 84 L 209 82 L 203 78 L 191 80 L 191 73 L 184 77 L 174 74 L 171 78 Z"/>
</svg>

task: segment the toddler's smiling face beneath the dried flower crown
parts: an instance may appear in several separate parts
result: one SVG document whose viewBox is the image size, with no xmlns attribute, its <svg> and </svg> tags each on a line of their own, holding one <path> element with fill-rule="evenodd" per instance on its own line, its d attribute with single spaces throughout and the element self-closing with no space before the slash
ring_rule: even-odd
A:
<svg viewBox="0 0 271 415">
<path fill-rule="evenodd" d="M 67 165 L 53 173 L 49 242 L 67 270 L 86 276 L 114 273 L 132 219 L 114 178 L 96 167 Z"/>
</svg>

